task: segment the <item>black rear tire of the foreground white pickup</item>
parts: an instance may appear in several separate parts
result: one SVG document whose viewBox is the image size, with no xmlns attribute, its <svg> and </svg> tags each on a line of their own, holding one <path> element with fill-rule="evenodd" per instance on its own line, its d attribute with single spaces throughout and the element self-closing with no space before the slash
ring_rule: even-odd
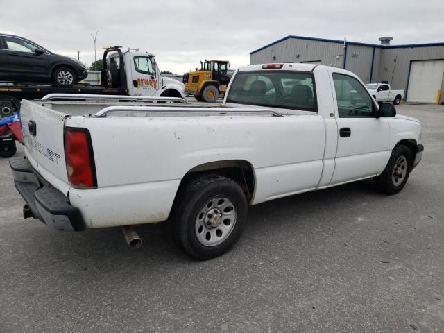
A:
<svg viewBox="0 0 444 333">
<path fill-rule="evenodd" d="M 207 237 L 210 231 L 214 230 L 214 240 L 218 241 L 217 237 L 222 237 L 223 235 L 216 236 L 216 232 L 223 229 L 221 227 L 223 227 L 222 223 L 225 224 L 225 216 L 221 212 L 218 220 L 219 226 L 212 227 L 209 225 L 203 227 L 207 220 L 207 215 L 210 215 L 210 210 L 205 213 L 202 211 L 210 209 L 210 207 L 214 210 L 213 207 L 217 207 L 221 202 L 221 197 L 228 199 L 228 202 L 232 205 L 232 210 L 228 213 L 231 214 L 233 212 L 234 214 L 234 219 L 231 222 L 231 231 L 221 238 L 222 242 L 220 244 L 207 246 L 199 240 L 198 232 L 201 234 L 200 238 L 202 239 L 203 234 L 206 233 L 205 237 Z M 207 205 L 207 203 L 216 198 L 214 205 Z M 176 197 L 173 211 L 171 212 L 173 238 L 176 244 L 194 259 L 205 260 L 218 257 L 230 250 L 236 244 L 239 237 L 241 237 L 246 225 L 247 210 L 246 196 L 236 182 L 218 175 L 198 176 L 184 185 Z M 202 220 L 199 221 L 199 219 Z M 199 226 L 198 223 L 202 225 Z M 198 231 L 201 230 L 201 227 L 203 230 Z M 207 240 L 210 241 L 208 238 Z"/>
</svg>

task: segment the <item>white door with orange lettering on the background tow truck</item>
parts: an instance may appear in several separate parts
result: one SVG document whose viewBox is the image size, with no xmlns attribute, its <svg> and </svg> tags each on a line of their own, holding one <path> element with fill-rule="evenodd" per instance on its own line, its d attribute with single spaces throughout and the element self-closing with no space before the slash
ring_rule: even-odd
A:
<svg viewBox="0 0 444 333">
<path fill-rule="evenodd" d="M 131 76 L 133 78 L 130 86 L 131 95 L 154 96 L 159 89 L 159 82 L 155 72 L 155 62 L 148 54 L 130 56 Z"/>
</svg>

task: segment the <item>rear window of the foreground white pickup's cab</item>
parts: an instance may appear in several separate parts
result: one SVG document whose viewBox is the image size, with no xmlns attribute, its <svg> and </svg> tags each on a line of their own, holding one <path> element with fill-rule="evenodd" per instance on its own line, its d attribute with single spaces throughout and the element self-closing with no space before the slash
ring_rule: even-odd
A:
<svg viewBox="0 0 444 333">
<path fill-rule="evenodd" d="M 241 71 L 234 76 L 227 103 L 316 112 L 314 78 L 301 71 Z"/>
</svg>

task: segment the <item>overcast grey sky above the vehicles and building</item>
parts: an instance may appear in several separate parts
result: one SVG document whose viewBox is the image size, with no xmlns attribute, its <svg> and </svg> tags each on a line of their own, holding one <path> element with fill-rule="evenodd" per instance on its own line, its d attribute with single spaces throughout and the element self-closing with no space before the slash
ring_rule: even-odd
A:
<svg viewBox="0 0 444 333">
<path fill-rule="evenodd" d="M 250 52 L 287 35 L 379 44 L 444 42 L 443 0 L 209 1 L 0 0 L 0 32 L 53 52 L 94 60 L 106 45 L 157 56 L 161 70 L 182 74 L 205 58 L 248 65 Z"/>
</svg>

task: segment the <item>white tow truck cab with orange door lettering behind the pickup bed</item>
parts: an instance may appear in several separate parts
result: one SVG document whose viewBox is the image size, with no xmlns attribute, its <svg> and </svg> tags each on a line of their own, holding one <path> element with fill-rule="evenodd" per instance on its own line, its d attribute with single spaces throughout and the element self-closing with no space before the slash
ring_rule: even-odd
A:
<svg viewBox="0 0 444 333">
<path fill-rule="evenodd" d="M 124 87 L 133 96 L 185 97 L 185 85 L 160 74 L 155 56 L 138 50 L 105 47 L 101 82 L 110 88 Z"/>
</svg>

